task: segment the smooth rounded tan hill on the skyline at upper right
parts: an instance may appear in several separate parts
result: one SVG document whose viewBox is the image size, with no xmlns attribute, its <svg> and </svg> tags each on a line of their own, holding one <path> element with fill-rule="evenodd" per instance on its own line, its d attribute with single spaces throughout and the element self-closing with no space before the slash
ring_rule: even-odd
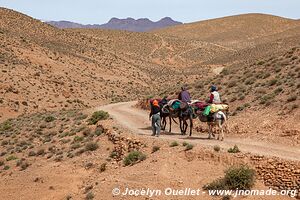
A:
<svg viewBox="0 0 300 200">
<path fill-rule="evenodd" d="M 155 32 L 233 47 L 233 42 L 273 35 L 296 26 L 299 26 L 297 20 L 265 14 L 244 14 L 183 24 Z"/>
</svg>

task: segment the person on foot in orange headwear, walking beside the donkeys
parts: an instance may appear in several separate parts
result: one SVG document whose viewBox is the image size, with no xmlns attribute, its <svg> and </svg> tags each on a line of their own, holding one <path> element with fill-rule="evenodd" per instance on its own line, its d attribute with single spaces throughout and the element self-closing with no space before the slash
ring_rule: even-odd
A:
<svg viewBox="0 0 300 200">
<path fill-rule="evenodd" d="M 154 100 L 151 104 L 151 112 L 149 119 L 151 119 L 152 136 L 160 135 L 160 106 L 157 100 Z"/>
</svg>

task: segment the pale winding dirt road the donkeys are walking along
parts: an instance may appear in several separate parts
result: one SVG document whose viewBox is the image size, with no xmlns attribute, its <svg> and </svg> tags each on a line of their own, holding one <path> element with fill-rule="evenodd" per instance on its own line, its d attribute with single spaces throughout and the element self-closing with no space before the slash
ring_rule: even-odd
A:
<svg viewBox="0 0 300 200">
<path fill-rule="evenodd" d="M 133 106 L 137 102 L 122 102 L 116 104 L 109 104 L 105 106 L 97 107 L 96 110 L 104 110 L 109 114 L 125 129 L 129 130 L 134 134 L 151 135 L 151 127 L 149 121 L 149 113 L 144 110 L 134 108 Z M 205 124 L 203 124 L 205 126 Z M 202 145 L 211 147 L 219 145 L 221 148 L 228 149 L 233 147 L 235 144 L 239 147 L 242 152 L 250 152 L 259 155 L 266 156 L 277 156 L 289 160 L 300 161 L 300 149 L 296 147 L 283 146 L 279 144 L 271 144 L 261 141 L 254 141 L 245 138 L 231 138 L 225 135 L 224 141 L 209 140 L 207 134 L 200 134 L 193 131 L 193 136 L 180 135 L 180 131 L 173 123 L 173 133 L 162 132 L 161 136 L 157 139 L 165 140 L 177 140 L 187 141 L 196 145 Z"/>
</svg>

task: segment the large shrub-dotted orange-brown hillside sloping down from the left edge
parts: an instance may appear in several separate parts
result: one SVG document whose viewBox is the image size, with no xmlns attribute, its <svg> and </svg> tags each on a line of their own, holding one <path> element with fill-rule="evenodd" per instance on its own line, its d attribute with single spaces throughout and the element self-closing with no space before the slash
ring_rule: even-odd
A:
<svg viewBox="0 0 300 200">
<path fill-rule="evenodd" d="M 179 70 L 106 49 L 108 38 L 60 30 L 4 8 L 0 14 L 2 117 L 136 99 L 158 90 L 153 81 L 181 76 Z M 159 73 L 164 70 L 169 75 Z"/>
</svg>

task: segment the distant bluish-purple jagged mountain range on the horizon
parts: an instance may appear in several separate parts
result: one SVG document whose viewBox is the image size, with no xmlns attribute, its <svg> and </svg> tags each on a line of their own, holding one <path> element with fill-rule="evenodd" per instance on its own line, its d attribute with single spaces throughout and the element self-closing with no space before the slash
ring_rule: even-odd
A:
<svg viewBox="0 0 300 200">
<path fill-rule="evenodd" d="M 154 29 L 165 28 L 169 26 L 179 25 L 182 22 L 174 21 L 170 17 L 162 18 L 157 22 L 153 22 L 148 18 L 141 18 L 141 19 L 133 19 L 133 18 L 126 18 L 126 19 L 118 19 L 112 18 L 106 24 L 88 24 L 83 25 L 79 23 L 74 23 L 70 21 L 47 21 L 46 23 L 55 26 L 57 28 L 94 28 L 94 29 L 113 29 L 113 30 L 127 30 L 127 31 L 134 31 L 134 32 L 146 32 L 151 31 Z"/>
</svg>

